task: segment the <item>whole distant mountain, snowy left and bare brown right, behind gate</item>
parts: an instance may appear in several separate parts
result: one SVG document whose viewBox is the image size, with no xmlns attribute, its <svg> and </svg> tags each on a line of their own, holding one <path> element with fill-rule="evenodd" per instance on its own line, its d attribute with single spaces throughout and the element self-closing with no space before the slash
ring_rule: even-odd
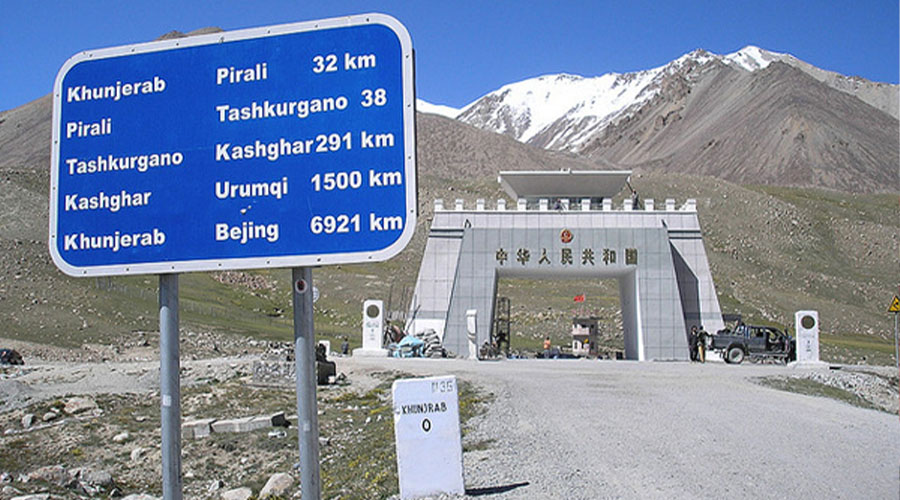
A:
<svg viewBox="0 0 900 500">
<path fill-rule="evenodd" d="M 645 71 L 506 85 L 458 120 L 605 164 L 738 183 L 895 191 L 898 86 L 747 47 Z"/>
</svg>

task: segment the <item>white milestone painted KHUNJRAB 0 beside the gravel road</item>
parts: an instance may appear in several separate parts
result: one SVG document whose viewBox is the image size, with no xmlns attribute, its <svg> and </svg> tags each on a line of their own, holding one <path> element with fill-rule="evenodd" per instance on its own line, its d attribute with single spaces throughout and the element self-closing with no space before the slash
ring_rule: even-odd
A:
<svg viewBox="0 0 900 500">
<path fill-rule="evenodd" d="M 400 498 L 465 493 L 456 377 L 397 380 L 392 392 Z"/>
</svg>

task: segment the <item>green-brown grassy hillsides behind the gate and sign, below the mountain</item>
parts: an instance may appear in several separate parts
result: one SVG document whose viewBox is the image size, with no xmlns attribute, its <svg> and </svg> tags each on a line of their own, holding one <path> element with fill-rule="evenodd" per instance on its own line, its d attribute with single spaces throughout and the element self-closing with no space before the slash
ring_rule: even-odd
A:
<svg viewBox="0 0 900 500">
<path fill-rule="evenodd" d="M 732 72 L 720 78 L 728 74 L 740 76 Z M 667 92 L 683 92 L 678 82 L 678 78 L 668 82 Z M 663 98 L 656 104 L 660 103 L 674 105 Z M 0 336 L 77 347 L 115 343 L 135 331 L 153 331 L 157 304 L 152 279 L 70 278 L 50 260 L 51 107 L 49 99 L 42 98 L 0 113 L 0 202 L 8 208 L 0 214 L 0 316 L 6 320 Z M 415 283 L 433 200 L 441 198 L 445 206 L 452 206 L 453 200 L 462 199 L 471 207 L 476 199 L 487 198 L 492 206 L 494 198 L 505 197 L 497 183 L 500 170 L 609 167 L 600 155 L 549 151 L 429 114 L 418 114 L 416 135 L 419 217 L 413 240 L 387 262 L 318 268 L 317 335 L 334 342 L 337 335 L 358 332 L 358 304 L 367 298 L 386 298 L 390 304 L 394 297 L 392 309 L 405 307 L 400 291 L 411 290 Z M 648 170 L 641 165 L 632 175 L 632 185 L 642 198 L 697 200 L 724 310 L 742 312 L 752 321 L 789 325 L 793 311 L 814 308 L 821 311 L 823 335 L 840 335 L 823 343 L 826 359 L 859 359 L 854 357 L 856 351 L 841 347 L 848 342 L 865 346 L 866 355 L 890 359 L 890 332 L 882 328 L 881 304 L 872 298 L 895 286 L 890 273 L 884 272 L 896 267 L 900 231 L 893 216 L 895 196 L 740 186 L 705 175 Z M 616 206 L 624 196 L 616 197 Z M 281 316 L 290 308 L 289 273 L 239 274 L 272 283 L 272 291 L 229 285 L 219 281 L 216 273 L 184 275 L 186 331 L 200 328 L 255 338 L 289 338 L 289 324 Z M 504 286 L 504 293 L 516 304 L 514 342 L 525 343 L 535 335 L 543 339 L 548 332 L 566 332 L 571 325 L 568 282 Z M 616 317 L 614 300 L 604 299 L 595 306 L 605 317 Z M 358 339 L 358 334 L 351 338 Z"/>
</svg>

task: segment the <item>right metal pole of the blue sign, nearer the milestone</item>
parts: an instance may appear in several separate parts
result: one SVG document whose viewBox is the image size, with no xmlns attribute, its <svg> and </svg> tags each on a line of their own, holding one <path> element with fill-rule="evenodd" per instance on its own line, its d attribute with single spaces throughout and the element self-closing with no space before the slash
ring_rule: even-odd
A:
<svg viewBox="0 0 900 500">
<path fill-rule="evenodd" d="M 319 500 L 319 415 L 316 406 L 316 338 L 313 330 L 312 269 L 291 270 L 294 284 L 294 360 L 297 375 L 297 441 L 302 500 Z"/>
</svg>

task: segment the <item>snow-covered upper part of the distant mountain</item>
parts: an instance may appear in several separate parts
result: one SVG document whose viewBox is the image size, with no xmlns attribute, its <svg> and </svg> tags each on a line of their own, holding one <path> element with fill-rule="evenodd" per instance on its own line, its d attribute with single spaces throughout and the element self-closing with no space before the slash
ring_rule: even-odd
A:
<svg viewBox="0 0 900 500">
<path fill-rule="evenodd" d="M 664 90 L 670 94 L 690 93 L 709 72 L 732 68 L 755 73 L 773 62 L 794 66 L 897 117 L 896 85 L 848 78 L 789 54 L 748 46 L 727 55 L 695 50 L 664 66 L 632 73 L 540 76 L 505 85 L 463 108 L 456 118 L 535 146 L 578 152 L 609 125 L 638 113 Z"/>
</svg>

